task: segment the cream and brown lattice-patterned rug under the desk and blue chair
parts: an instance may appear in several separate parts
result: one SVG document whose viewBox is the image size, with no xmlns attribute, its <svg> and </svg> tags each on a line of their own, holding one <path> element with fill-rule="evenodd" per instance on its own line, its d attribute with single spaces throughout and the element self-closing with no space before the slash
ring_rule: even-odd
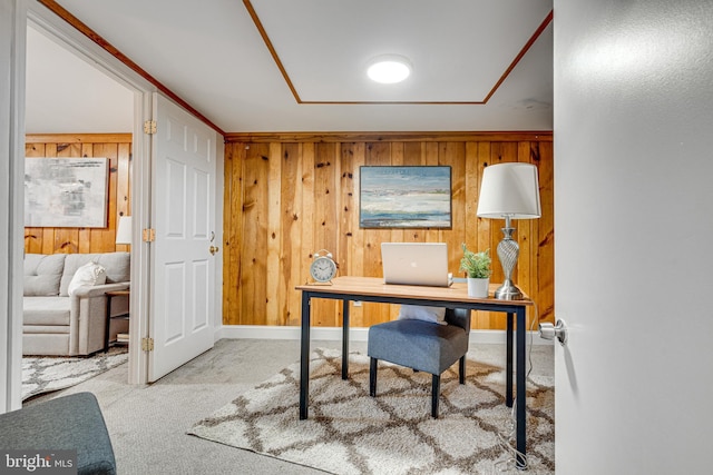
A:
<svg viewBox="0 0 713 475">
<path fill-rule="evenodd" d="M 496 474 L 515 469 L 514 414 L 505 405 L 505 372 L 469 359 L 441 376 L 439 418 L 430 416 L 431 375 L 379 362 L 369 396 L 369 358 L 316 349 L 310 360 L 309 418 L 299 419 L 300 365 L 196 423 L 188 434 L 339 475 Z M 554 380 L 527 387 L 527 467 L 554 474 Z"/>
</svg>

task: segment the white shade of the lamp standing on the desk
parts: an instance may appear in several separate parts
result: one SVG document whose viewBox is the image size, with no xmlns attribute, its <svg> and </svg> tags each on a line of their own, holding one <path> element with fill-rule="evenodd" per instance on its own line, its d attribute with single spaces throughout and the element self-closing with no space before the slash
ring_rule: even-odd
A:
<svg viewBox="0 0 713 475">
<path fill-rule="evenodd" d="M 519 162 L 486 167 L 480 182 L 477 215 L 494 219 L 539 218 L 537 167 Z"/>
</svg>

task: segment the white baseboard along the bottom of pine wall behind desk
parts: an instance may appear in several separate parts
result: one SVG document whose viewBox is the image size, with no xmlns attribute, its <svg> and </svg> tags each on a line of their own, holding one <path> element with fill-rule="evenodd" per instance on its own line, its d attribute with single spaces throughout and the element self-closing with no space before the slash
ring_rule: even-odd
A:
<svg viewBox="0 0 713 475">
<path fill-rule="evenodd" d="M 369 328 L 350 328 L 349 339 L 351 342 L 367 342 Z M 471 344 L 505 344 L 505 330 L 471 330 Z M 300 327 L 274 327 L 261 325 L 223 325 L 216 329 L 216 340 L 228 339 L 300 339 Z M 539 337 L 538 331 L 527 331 L 527 344 L 551 345 L 551 340 Z M 312 327 L 310 339 L 341 342 L 341 327 Z"/>
</svg>

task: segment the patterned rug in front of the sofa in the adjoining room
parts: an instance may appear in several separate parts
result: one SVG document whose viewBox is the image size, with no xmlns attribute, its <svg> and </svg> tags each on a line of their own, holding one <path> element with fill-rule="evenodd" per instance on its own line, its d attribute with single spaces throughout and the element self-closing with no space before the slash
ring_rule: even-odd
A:
<svg viewBox="0 0 713 475">
<path fill-rule="evenodd" d="M 89 357 L 23 356 L 22 400 L 38 394 L 65 389 L 115 368 L 129 358 L 128 346 L 113 346 L 108 353 Z"/>
</svg>

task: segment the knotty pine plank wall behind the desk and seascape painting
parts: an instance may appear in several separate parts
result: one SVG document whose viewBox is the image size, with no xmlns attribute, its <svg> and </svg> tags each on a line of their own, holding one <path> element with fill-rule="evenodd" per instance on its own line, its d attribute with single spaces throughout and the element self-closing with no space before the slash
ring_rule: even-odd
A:
<svg viewBox="0 0 713 475">
<path fill-rule="evenodd" d="M 491 281 L 502 281 L 496 248 L 504 220 L 476 217 L 486 166 L 507 161 L 539 168 L 543 217 L 515 221 L 520 257 L 514 281 L 554 321 L 551 133 L 270 135 L 232 133 L 225 148 L 224 303 L 226 325 L 300 324 L 300 293 L 313 253 L 334 255 L 340 275 L 381 276 L 382 241 L 448 243 L 458 273 L 460 245 L 494 256 Z M 452 167 L 451 229 L 360 229 L 359 170 L 373 165 Z M 392 305 L 353 307 L 367 327 L 397 315 Z M 530 311 L 528 327 L 533 321 Z M 316 326 L 340 326 L 341 305 L 313 301 Z M 473 328 L 502 329 L 505 316 L 478 311 Z"/>
</svg>

